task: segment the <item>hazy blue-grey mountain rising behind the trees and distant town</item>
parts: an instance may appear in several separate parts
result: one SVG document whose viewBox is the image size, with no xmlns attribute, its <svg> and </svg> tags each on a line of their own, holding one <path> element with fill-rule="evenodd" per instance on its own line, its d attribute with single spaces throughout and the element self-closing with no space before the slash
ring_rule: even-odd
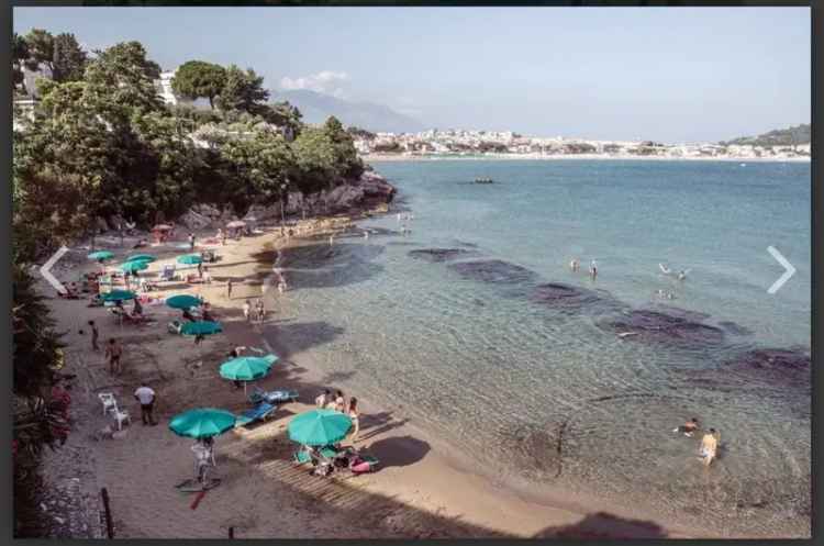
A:
<svg viewBox="0 0 824 546">
<path fill-rule="evenodd" d="M 323 123 L 334 115 L 344 125 L 354 125 L 371 132 L 416 133 L 426 127 L 423 123 L 375 102 L 355 102 L 309 89 L 280 90 L 274 100 L 288 100 L 303 114 L 307 123 Z"/>
</svg>

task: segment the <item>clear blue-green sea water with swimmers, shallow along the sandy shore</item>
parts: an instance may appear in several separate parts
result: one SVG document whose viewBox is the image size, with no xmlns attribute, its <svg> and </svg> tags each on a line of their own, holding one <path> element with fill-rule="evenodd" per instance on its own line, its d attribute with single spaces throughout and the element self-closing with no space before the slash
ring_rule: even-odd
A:
<svg viewBox="0 0 824 546">
<path fill-rule="evenodd" d="M 809 533 L 809 369 L 788 378 L 730 364 L 758 348 L 809 354 L 809 164 L 376 169 L 414 214 L 410 234 L 396 233 L 390 214 L 361 224 L 368 239 L 312 242 L 285 258 L 292 319 L 329 326 L 305 345 L 343 387 L 402 406 L 479 468 L 532 491 L 561 484 L 732 534 Z M 500 183 L 466 183 L 481 176 Z M 776 296 L 767 288 L 782 269 L 768 245 L 798 268 Z M 410 255 L 426 248 L 465 253 Z M 598 260 L 597 281 L 569 271 L 574 256 L 583 270 Z M 524 269 L 455 266 L 489 259 Z M 689 278 L 668 278 L 658 263 L 690 268 Z M 546 282 L 586 291 L 535 301 Z M 688 316 L 712 335 L 620 338 L 627 328 L 609 324 L 639 309 Z M 691 416 L 722 433 L 709 471 L 698 439 L 671 432 Z"/>
</svg>

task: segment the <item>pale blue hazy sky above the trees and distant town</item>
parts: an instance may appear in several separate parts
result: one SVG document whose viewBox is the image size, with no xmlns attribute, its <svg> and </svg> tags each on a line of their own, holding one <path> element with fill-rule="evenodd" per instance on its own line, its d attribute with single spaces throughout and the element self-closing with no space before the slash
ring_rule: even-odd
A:
<svg viewBox="0 0 824 546">
<path fill-rule="evenodd" d="M 430 126 L 716 141 L 810 122 L 809 8 L 15 8 L 164 68 L 387 104 Z"/>
</svg>

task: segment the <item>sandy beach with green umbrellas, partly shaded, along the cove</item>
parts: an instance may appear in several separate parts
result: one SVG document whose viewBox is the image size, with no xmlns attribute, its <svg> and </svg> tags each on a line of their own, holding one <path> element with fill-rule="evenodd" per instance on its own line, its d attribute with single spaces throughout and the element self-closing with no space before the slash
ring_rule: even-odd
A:
<svg viewBox="0 0 824 546">
<path fill-rule="evenodd" d="M 347 222 L 342 219 L 337 225 Z M 310 234 L 329 230 L 329 225 L 321 225 L 298 231 Z M 199 235 L 202 239 L 207 234 Z M 267 288 L 277 249 L 294 242 L 269 229 L 215 246 L 221 259 L 209 265 L 211 285 L 177 282 L 151 292 L 155 298 L 191 293 L 212 304 L 224 333 L 208 336 L 200 346 L 191 337 L 167 331 L 167 323 L 178 319 L 179 311 L 163 304 L 144 305 L 153 324 L 121 327 L 105 309 L 88 308 L 87 300 L 48 300 L 58 330 L 67 332 L 62 371 L 77 377 L 70 381 L 71 434 L 63 449 L 46 455 L 43 473 L 52 488 L 70 483 L 78 490 L 75 501 L 48 509 L 59 522 L 88 520 L 88 525 L 81 522 L 73 526 L 85 531 L 74 531 L 71 536 L 101 536 L 101 488 L 107 488 L 111 498 L 119 538 L 218 538 L 225 537 L 230 527 L 238 538 L 709 536 L 703 531 L 646 521 L 627 506 L 601 505 L 594 499 L 576 499 L 564 491 L 549 491 L 541 500 L 527 499 L 493 479 L 468 471 L 446 443 L 361 400 L 357 392 L 346 392 L 347 397 L 358 397 L 361 404 L 357 447 L 380 459 L 378 470 L 319 478 L 310 476 L 308 468 L 296 467 L 291 456 L 297 446 L 286 435 L 287 423 L 313 408 L 322 389 L 335 389 L 336 378 L 334 374 L 324 376 L 313 366 L 311 347 L 290 345 L 288 336 L 278 334 L 278 326 L 291 320 L 288 307 L 267 310 L 264 325 L 276 332 L 269 339 L 261 336 L 261 325 L 247 323 L 241 312 L 247 298 L 258 298 Z M 132 252 L 129 245 L 110 249 L 115 253 L 114 265 Z M 142 250 L 159 258 L 149 272 L 186 252 L 174 245 Z M 64 272 L 63 280 L 96 267 L 82 261 L 85 252 L 74 253 L 77 266 L 70 275 Z M 225 290 L 229 278 L 234 279 L 231 300 Z M 43 292 L 54 293 L 45 283 Z M 101 342 L 115 336 L 123 344 L 123 371 L 119 376 L 109 374 L 102 353 L 91 350 L 86 323 L 92 319 L 100 327 Z M 193 476 L 193 441 L 172 434 L 168 422 L 191 408 L 213 406 L 234 413 L 248 408 L 243 390 L 235 390 L 218 374 L 219 365 L 236 345 L 280 356 L 272 372 L 257 385 L 294 389 L 300 400 L 280 406 L 264 423 L 218 437 L 212 473 L 222 482 L 192 508 L 194 494 L 182 493 L 175 484 Z M 157 392 L 158 426 L 141 424 L 140 406 L 132 393 L 142 381 Z M 101 428 L 113 425 L 111 416 L 103 415 L 100 392 L 114 393 L 119 405 L 131 414 L 131 425 L 113 439 L 99 436 Z"/>
</svg>

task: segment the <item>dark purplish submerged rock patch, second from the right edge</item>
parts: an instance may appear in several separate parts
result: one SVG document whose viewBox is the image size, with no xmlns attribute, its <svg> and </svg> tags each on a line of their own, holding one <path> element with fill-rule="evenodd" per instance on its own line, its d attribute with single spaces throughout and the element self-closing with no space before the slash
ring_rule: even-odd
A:
<svg viewBox="0 0 824 546">
<path fill-rule="evenodd" d="M 617 332 L 632 332 L 636 335 L 626 339 L 647 339 L 688 345 L 717 345 L 724 341 L 724 331 L 715 326 L 690 321 L 680 316 L 650 310 L 635 310 L 625 317 L 606 322 L 605 325 Z"/>
</svg>

